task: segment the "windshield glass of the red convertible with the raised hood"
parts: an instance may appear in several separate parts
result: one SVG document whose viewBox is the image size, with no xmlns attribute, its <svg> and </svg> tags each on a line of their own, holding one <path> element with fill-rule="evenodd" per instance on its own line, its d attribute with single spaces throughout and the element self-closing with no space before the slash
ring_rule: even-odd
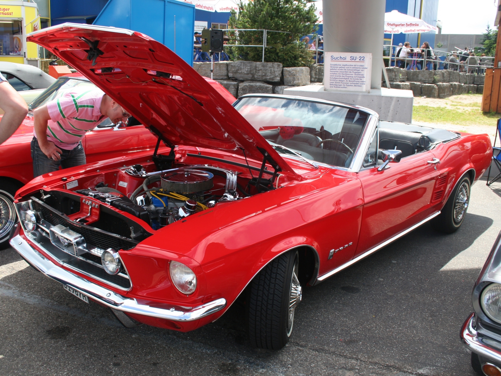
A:
<svg viewBox="0 0 501 376">
<path fill-rule="evenodd" d="M 247 97 L 236 110 L 282 154 L 349 167 L 369 115 L 336 105 L 285 98 Z"/>
</svg>

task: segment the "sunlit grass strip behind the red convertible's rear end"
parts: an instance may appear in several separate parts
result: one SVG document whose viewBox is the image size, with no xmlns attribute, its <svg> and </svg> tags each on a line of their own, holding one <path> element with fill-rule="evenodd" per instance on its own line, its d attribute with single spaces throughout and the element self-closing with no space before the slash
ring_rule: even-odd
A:
<svg viewBox="0 0 501 376">
<path fill-rule="evenodd" d="M 480 109 L 459 111 L 444 107 L 414 106 L 412 119 L 426 123 L 455 125 L 496 125 L 499 114 L 482 112 Z"/>
</svg>

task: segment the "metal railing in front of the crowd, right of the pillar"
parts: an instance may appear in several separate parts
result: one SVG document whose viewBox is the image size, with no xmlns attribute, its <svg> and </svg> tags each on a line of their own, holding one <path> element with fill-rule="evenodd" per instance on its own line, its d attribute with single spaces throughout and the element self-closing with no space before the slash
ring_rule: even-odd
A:
<svg viewBox="0 0 501 376">
<path fill-rule="evenodd" d="M 423 70 L 429 69 L 431 70 L 454 70 L 465 73 L 477 73 L 483 74 L 486 68 L 493 67 L 494 58 L 491 56 L 468 56 L 465 61 L 460 62 L 461 58 L 460 52 L 451 51 L 441 51 L 441 50 L 433 50 L 429 49 L 430 52 L 422 53 L 421 48 L 409 48 L 411 50 L 410 53 L 407 54 L 405 58 L 395 56 L 398 49 L 402 46 L 390 46 L 383 45 L 383 59 L 387 59 L 388 66 L 397 66 L 397 63 L 400 62 L 401 68 L 409 69 L 409 70 Z M 433 55 L 435 58 L 430 58 L 428 55 L 433 51 Z M 385 54 L 386 53 L 386 54 Z M 453 54 L 456 54 L 456 61 L 451 62 L 450 58 L 453 57 Z M 443 57 L 443 60 L 440 59 Z M 472 63 L 471 58 L 474 58 Z M 482 59 L 483 61 L 481 61 Z M 430 66 L 431 64 L 431 66 Z"/>
</svg>

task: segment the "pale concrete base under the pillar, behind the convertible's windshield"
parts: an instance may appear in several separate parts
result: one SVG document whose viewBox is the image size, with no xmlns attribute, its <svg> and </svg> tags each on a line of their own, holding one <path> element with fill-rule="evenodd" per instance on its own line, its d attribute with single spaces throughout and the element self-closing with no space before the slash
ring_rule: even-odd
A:
<svg viewBox="0 0 501 376">
<path fill-rule="evenodd" d="M 412 122 L 412 90 L 381 88 L 371 89 L 370 93 L 354 93 L 326 91 L 323 85 L 307 85 L 285 89 L 284 95 L 299 95 L 362 106 L 376 111 L 381 120 Z"/>
</svg>

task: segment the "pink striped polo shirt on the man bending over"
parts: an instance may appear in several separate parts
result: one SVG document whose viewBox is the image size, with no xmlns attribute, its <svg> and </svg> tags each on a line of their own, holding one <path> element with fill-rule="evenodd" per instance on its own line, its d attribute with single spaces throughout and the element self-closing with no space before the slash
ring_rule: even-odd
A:
<svg viewBox="0 0 501 376">
<path fill-rule="evenodd" d="M 47 125 L 47 139 L 61 149 L 74 149 L 85 132 L 106 118 L 99 112 L 103 95 L 97 88 L 75 87 L 48 102 L 51 120 Z M 37 136 L 35 131 L 34 135 Z"/>
</svg>

